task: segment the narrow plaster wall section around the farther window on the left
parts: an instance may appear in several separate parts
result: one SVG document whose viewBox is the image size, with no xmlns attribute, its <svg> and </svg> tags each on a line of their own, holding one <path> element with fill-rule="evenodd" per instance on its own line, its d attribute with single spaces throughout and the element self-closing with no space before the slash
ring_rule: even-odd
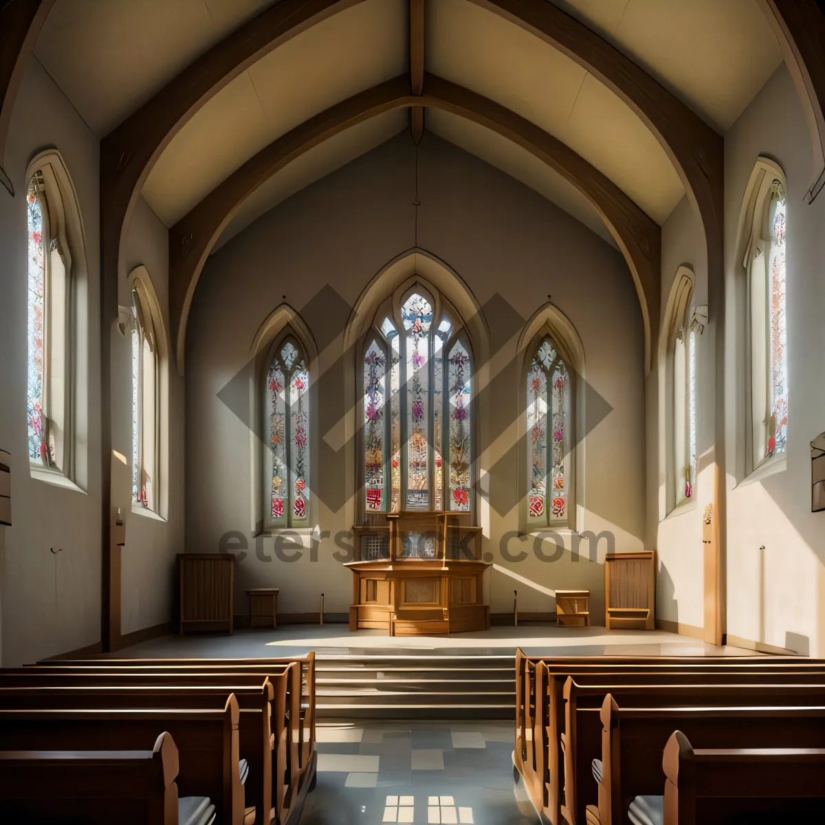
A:
<svg viewBox="0 0 825 825">
<path fill-rule="evenodd" d="M 125 273 L 121 273 L 121 306 L 131 306 L 124 275 L 143 265 L 151 278 L 169 337 L 168 232 L 146 201 L 139 198 L 125 238 Z M 112 448 L 131 461 L 132 455 L 132 351 L 129 334 L 112 337 Z M 129 513 L 126 544 L 121 555 L 121 633 L 161 625 L 172 620 L 174 610 L 175 554 L 183 552 L 183 380 L 174 360 L 169 363 L 167 382 L 168 429 L 161 429 L 161 483 L 167 487 L 167 507 L 161 517 L 140 508 Z M 130 464 L 131 466 L 131 464 Z M 130 488 L 131 490 L 131 488 Z"/>
</svg>

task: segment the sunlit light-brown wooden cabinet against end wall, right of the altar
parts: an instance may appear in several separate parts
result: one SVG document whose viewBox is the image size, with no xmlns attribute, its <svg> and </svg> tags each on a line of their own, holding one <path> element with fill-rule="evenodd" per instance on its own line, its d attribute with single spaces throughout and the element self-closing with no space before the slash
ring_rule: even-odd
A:
<svg viewBox="0 0 825 825">
<path fill-rule="evenodd" d="M 605 626 L 653 630 L 656 553 L 609 553 L 605 559 Z"/>
</svg>

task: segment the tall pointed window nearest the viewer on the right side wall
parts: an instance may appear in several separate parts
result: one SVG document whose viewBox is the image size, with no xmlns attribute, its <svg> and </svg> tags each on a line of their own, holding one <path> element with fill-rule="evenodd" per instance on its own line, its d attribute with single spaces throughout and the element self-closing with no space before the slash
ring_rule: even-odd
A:
<svg viewBox="0 0 825 825">
<path fill-rule="evenodd" d="M 751 469 L 784 453 L 788 437 L 787 319 L 785 314 L 785 183 L 763 160 L 761 184 L 752 195 L 748 275 L 750 332 Z M 770 172 L 774 172 L 771 174 Z"/>
</svg>

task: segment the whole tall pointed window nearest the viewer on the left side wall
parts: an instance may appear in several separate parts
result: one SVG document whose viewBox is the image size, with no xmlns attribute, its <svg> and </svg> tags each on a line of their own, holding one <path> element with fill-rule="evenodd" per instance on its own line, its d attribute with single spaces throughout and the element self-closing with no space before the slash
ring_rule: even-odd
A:
<svg viewBox="0 0 825 825">
<path fill-rule="evenodd" d="M 70 464 L 70 261 L 59 189 L 49 165 L 37 170 L 26 193 L 28 219 L 28 370 L 26 413 L 29 460 L 68 475 Z"/>
</svg>

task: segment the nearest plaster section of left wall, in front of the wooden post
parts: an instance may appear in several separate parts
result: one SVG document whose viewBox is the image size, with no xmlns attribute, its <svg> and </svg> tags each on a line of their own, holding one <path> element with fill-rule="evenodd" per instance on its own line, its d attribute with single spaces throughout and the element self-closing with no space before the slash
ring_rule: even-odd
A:
<svg viewBox="0 0 825 825">
<path fill-rule="evenodd" d="M 29 474 L 26 444 L 26 167 L 57 148 L 77 191 L 86 237 L 80 332 L 87 369 L 80 399 L 83 492 Z M 0 189 L 0 446 L 12 454 L 12 527 L 2 559 L 2 663 L 31 662 L 101 638 L 101 455 L 98 141 L 36 60 L 12 113 L 4 167 L 16 190 Z M 0 544 L 2 548 L 2 544 Z M 52 554 L 50 548 L 62 548 Z"/>
</svg>

